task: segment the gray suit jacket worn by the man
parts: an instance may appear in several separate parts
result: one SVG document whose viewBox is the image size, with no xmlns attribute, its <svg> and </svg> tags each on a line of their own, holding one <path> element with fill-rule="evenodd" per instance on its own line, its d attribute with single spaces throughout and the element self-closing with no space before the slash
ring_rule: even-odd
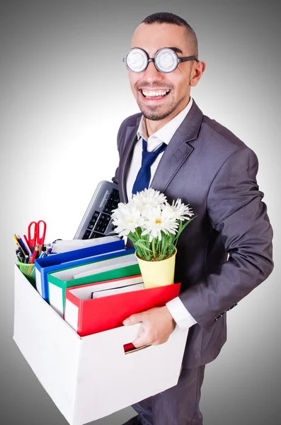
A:
<svg viewBox="0 0 281 425">
<path fill-rule="evenodd" d="M 117 135 L 120 163 L 113 181 L 121 202 L 127 202 L 126 173 L 141 116 L 127 118 Z M 180 300 L 197 321 L 184 368 L 217 357 L 226 341 L 225 313 L 273 270 L 273 231 L 257 171 L 256 154 L 193 101 L 151 181 L 170 202 L 181 198 L 197 215 L 180 235 L 176 256 Z"/>
</svg>

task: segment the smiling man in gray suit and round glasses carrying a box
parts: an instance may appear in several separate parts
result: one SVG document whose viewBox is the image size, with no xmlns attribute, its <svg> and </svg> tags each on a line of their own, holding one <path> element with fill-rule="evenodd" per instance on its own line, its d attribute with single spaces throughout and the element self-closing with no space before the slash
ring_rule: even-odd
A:
<svg viewBox="0 0 281 425">
<path fill-rule="evenodd" d="M 258 160 L 190 98 L 205 62 L 198 60 L 196 35 L 182 18 L 146 18 L 125 63 L 141 113 L 127 118 L 117 135 L 120 164 L 113 181 L 120 199 L 127 202 L 142 187 L 142 149 L 164 146 L 145 171 L 150 179 L 144 186 L 150 183 L 170 202 L 181 198 L 197 215 L 178 240 L 179 297 L 124 322 L 142 322 L 136 347 L 163 344 L 176 324 L 189 328 L 178 385 L 134 404 L 138 416 L 126 425 L 201 425 L 205 364 L 226 341 L 225 313 L 273 270 L 273 232 L 256 183 Z"/>
</svg>

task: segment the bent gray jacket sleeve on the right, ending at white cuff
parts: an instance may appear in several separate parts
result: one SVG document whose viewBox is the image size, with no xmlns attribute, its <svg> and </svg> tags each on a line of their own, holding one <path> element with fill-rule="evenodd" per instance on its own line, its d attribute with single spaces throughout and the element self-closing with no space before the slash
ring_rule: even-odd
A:
<svg viewBox="0 0 281 425">
<path fill-rule="evenodd" d="M 207 212 L 229 259 L 180 294 L 201 327 L 208 327 L 263 282 L 273 270 L 273 230 L 258 190 L 258 159 L 246 147 L 226 159 L 212 181 Z"/>
</svg>

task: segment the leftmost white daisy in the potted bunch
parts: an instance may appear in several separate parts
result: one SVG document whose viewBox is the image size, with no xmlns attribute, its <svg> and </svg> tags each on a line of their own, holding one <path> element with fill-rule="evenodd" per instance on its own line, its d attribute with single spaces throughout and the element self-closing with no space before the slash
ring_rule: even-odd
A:
<svg viewBox="0 0 281 425">
<path fill-rule="evenodd" d="M 120 236 L 134 233 L 137 227 L 142 227 L 144 217 L 132 203 L 119 203 L 118 208 L 113 210 L 113 225 L 117 226 L 114 231 Z"/>
</svg>

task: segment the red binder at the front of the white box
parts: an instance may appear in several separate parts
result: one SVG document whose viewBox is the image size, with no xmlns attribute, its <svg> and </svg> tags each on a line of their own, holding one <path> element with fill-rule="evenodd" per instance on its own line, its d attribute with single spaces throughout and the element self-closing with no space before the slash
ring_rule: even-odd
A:
<svg viewBox="0 0 281 425">
<path fill-rule="evenodd" d="M 91 294 L 94 285 L 90 283 L 79 288 L 88 287 Z M 77 290 L 74 287 L 66 291 L 64 319 L 74 327 L 77 334 L 86 336 L 120 327 L 123 320 L 131 314 L 144 312 L 153 307 L 163 307 L 166 302 L 178 296 L 180 283 L 88 300 L 81 300 L 74 295 Z"/>
</svg>

